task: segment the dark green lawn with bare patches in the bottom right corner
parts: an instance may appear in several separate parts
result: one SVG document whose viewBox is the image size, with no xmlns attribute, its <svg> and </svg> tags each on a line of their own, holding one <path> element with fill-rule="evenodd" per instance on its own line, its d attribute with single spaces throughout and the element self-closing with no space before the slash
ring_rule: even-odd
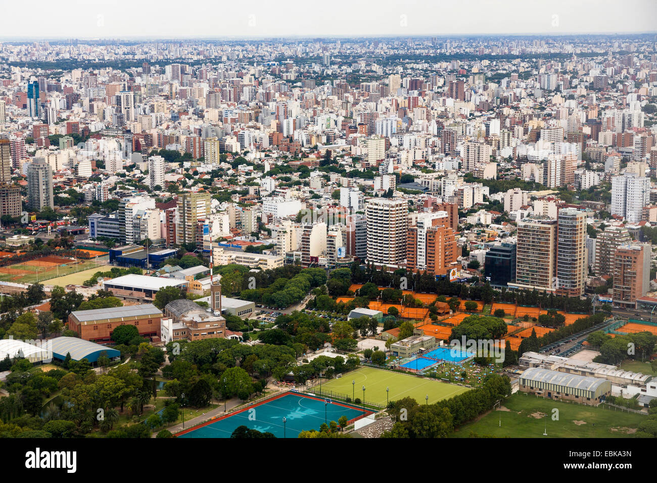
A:
<svg viewBox="0 0 657 483">
<path fill-rule="evenodd" d="M 614 410 L 605 404 L 593 407 L 556 402 L 524 392 L 516 392 L 502 402 L 502 407 L 509 411 L 491 411 L 479 421 L 461 426 L 452 437 L 468 438 L 474 433 L 495 438 L 631 438 L 631 430 L 646 419 L 645 415 Z M 558 421 L 552 420 L 555 408 Z M 546 426 L 547 436 L 543 436 Z"/>
</svg>

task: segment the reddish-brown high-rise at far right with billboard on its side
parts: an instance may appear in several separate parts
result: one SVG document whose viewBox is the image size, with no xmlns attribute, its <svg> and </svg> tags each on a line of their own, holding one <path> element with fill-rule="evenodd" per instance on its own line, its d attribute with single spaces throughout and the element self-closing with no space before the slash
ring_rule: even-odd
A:
<svg viewBox="0 0 657 483">
<path fill-rule="evenodd" d="M 649 244 L 625 244 L 614 254 L 614 304 L 635 306 L 650 289 Z"/>
</svg>

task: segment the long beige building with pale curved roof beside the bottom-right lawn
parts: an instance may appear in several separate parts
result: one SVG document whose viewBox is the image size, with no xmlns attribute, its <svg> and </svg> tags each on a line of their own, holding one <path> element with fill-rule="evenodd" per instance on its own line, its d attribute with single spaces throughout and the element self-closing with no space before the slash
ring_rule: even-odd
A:
<svg viewBox="0 0 657 483">
<path fill-rule="evenodd" d="M 520 390 L 553 400 L 567 400 L 597 406 L 612 392 L 612 383 L 600 377 L 584 377 L 541 367 L 520 375 Z"/>
</svg>

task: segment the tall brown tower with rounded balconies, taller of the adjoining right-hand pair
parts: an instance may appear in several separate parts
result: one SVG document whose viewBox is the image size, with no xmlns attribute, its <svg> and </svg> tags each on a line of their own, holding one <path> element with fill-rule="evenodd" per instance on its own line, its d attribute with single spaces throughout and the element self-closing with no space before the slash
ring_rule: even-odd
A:
<svg viewBox="0 0 657 483">
<path fill-rule="evenodd" d="M 556 292 L 578 297 L 586 281 L 586 214 L 559 210 L 556 234 Z"/>
</svg>

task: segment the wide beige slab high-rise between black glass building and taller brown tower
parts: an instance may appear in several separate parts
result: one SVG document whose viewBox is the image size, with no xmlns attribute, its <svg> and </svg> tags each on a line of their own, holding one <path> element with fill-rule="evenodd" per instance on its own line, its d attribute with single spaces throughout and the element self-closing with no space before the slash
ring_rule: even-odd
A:
<svg viewBox="0 0 657 483">
<path fill-rule="evenodd" d="M 525 218 L 518 223 L 516 281 L 513 287 L 555 290 L 556 219 Z"/>
</svg>

